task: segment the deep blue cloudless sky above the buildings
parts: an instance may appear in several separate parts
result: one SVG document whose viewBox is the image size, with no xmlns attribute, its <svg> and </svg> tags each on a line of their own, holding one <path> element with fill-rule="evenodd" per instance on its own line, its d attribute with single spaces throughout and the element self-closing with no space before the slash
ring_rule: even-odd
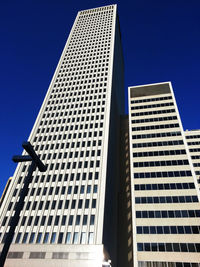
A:
<svg viewBox="0 0 200 267">
<path fill-rule="evenodd" d="M 200 128 L 199 0 L 0 2 L 0 195 L 79 10 L 118 4 L 129 85 L 172 81 L 184 129 Z"/>
</svg>

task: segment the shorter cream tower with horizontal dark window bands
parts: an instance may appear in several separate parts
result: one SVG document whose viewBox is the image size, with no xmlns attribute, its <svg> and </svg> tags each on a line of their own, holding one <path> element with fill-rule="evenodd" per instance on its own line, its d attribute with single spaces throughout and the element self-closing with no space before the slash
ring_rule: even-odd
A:
<svg viewBox="0 0 200 267">
<path fill-rule="evenodd" d="M 200 195 L 171 83 L 129 87 L 134 266 L 200 266 Z"/>
</svg>

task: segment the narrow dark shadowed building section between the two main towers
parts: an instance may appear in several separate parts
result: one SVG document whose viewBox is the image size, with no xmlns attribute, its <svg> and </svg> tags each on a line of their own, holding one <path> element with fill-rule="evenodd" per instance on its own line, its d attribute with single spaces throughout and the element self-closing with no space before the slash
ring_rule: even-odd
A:
<svg viewBox="0 0 200 267">
<path fill-rule="evenodd" d="M 128 115 L 120 119 L 120 184 L 118 197 L 117 266 L 133 267 L 132 202 Z"/>
</svg>

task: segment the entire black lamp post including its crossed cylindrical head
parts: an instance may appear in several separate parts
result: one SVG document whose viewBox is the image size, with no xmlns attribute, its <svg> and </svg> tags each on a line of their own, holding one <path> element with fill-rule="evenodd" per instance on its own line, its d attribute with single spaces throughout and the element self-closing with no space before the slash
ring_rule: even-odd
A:
<svg viewBox="0 0 200 267">
<path fill-rule="evenodd" d="M 28 187 L 30 182 L 32 181 L 32 174 L 35 171 L 36 167 L 38 167 L 40 172 L 45 172 L 47 169 L 47 166 L 45 166 L 42 161 L 39 159 L 38 155 L 35 153 L 33 146 L 30 142 L 23 142 L 22 147 L 26 150 L 26 152 L 29 154 L 28 156 L 13 156 L 12 160 L 14 162 L 26 162 L 31 161 L 31 165 L 28 169 L 28 174 L 24 179 L 24 186 L 22 187 L 20 194 L 19 194 L 19 201 L 16 202 L 14 216 L 11 217 L 10 220 L 10 229 L 8 231 L 8 234 L 5 238 L 5 243 L 0 255 L 0 267 L 4 266 L 8 250 L 10 248 L 10 245 L 13 240 L 13 236 L 15 233 L 15 228 L 19 222 L 19 215 L 21 210 L 23 209 L 24 205 L 24 199 L 28 193 Z"/>
</svg>

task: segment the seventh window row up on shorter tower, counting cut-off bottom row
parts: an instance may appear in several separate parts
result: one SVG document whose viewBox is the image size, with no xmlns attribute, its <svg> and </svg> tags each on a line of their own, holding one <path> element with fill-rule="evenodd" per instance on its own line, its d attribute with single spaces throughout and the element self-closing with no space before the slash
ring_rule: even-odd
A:
<svg viewBox="0 0 200 267">
<path fill-rule="evenodd" d="M 139 172 L 134 173 L 134 178 L 172 178 L 192 176 L 191 171 L 170 171 L 170 172 Z"/>
</svg>

